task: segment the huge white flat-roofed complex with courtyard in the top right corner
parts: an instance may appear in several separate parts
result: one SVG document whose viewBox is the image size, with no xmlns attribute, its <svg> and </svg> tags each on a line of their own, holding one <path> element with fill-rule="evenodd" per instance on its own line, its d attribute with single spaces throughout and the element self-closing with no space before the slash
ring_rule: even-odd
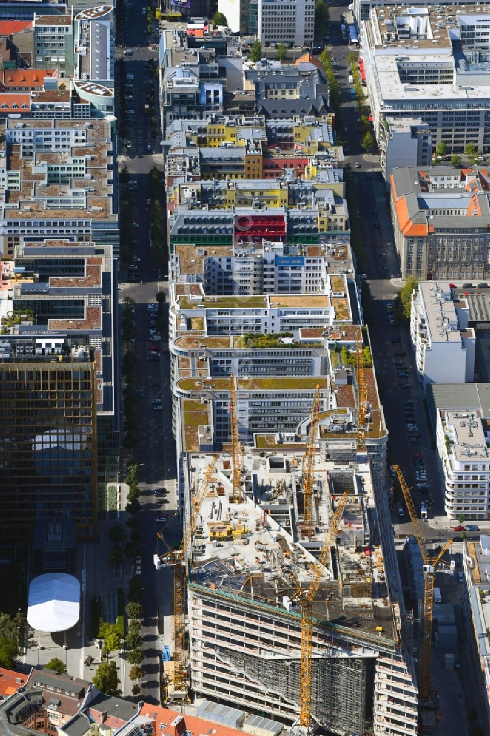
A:
<svg viewBox="0 0 490 736">
<path fill-rule="evenodd" d="M 361 57 L 377 140 L 386 116 L 422 118 L 434 148 L 490 151 L 486 26 L 480 5 L 372 8 Z"/>
</svg>

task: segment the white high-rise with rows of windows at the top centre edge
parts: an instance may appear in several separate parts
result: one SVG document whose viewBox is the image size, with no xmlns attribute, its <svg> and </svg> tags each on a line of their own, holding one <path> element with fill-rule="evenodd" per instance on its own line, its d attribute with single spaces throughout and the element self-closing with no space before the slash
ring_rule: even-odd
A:
<svg viewBox="0 0 490 736">
<path fill-rule="evenodd" d="M 257 36 L 263 46 L 310 46 L 314 20 L 314 0 L 258 0 Z"/>
</svg>

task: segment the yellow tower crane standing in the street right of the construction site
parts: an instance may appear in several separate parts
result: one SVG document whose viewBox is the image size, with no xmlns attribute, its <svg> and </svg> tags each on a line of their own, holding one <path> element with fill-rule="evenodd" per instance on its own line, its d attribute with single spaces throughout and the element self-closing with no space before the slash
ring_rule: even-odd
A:
<svg viewBox="0 0 490 736">
<path fill-rule="evenodd" d="M 452 545 L 452 539 L 444 545 L 435 557 L 430 556 L 429 551 L 427 550 L 427 545 L 425 544 L 424 535 L 422 534 L 422 525 L 413 503 L 411 489 L 408 487 L 405 478 L 403 477 L 400 466 L 394 465 L 393 467 L 397 473 L 398 481 L 400 482 L 403 498 L 405 498 L 408 513 L 412 520 L 413 531 L 415 532 L 417 542 L 419 542 L 420 553 L 422 554 L 422 559 L 424 561 L 424 625 L 422 629 L 422 659 L 420 662 L 420 695 L 422 696 L 422 701 L 427 701 L 430 697 L 430 642 L 432 640 L 434 582 L 436 581 L 436 572 L 438 567 L 440 565 L 445 565 L 441 558 Z"/>
</svg>

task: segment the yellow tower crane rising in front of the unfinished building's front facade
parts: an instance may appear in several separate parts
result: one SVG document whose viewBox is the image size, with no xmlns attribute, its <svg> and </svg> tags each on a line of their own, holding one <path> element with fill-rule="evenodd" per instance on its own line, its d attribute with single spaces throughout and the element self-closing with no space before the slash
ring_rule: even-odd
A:
<svg viewBox="0 0 490 736">
<path fill-rule="evenodd" d="M 325 537 L 322 551 L 319 556 L 319 564 L 315 565 L 313 580 L 307 590 L 299 590 L 294 599 L 301 608 L 301 662 L 299 664 L 299 726 L 310 728 L 311 721 L 311 680 L 312 680 L 312 648 L 313 648 L 313 600 L 318 592 L 322 580 L 323 568 L 330 563 L 330 548 L 338 524 L 344 513 L 344 507 L 352 491 L 345 491 L 338 500 L 337 508 L 330 518 L 330 526 Z"/>
</svg>

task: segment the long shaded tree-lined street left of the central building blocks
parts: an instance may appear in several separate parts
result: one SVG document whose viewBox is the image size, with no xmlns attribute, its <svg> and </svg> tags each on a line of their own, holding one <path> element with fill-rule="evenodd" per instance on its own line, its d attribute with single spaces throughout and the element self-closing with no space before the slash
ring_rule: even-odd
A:
<svg viewBox="0 0 490 736">
<path fill-rule="evenodd" d="M 176 496 L 176 451 L 174 438 L 171 432 L 171 389 L 170 389 L 170 362 L 166 334 L 162 335 L 163 342 L 152 343 L 160 347 L 160 361 L 149 360 L 149 327 L 146 305 L 155 302 L 157 291 L 164 291 L 168 297 L 168 281 L 166 280 L 166 266 L 155 263 L 149 247 L 149 213 L 146 200 L 149 198 L 148 172 L 152 166 L 163 171 L 163 157 L 158 152 L 152 153 L 153 146 L 157 146 L 149 135 L 149 120 L 144 112 L 146 102 L 143 82 L 148 78 L 144 64 L 149 58 L 157 59 L 157 51 L 147 46 L 138 48 L 138 40 L 147 38 L 146 18 L 141 13 L 139 4 L 125 6 L 127 13 L 127 37 L 125 45 L 133 49 L 132 56 L 124 57 L 125 71 L 133 74 L 133 87 L 128 93 L 133 99 L 127 100 L 127 109 L 134 110 L 134 122 L 130 124 L 129 133 L 131 153 L 141 155 L 141 158 L 128 158 L 120 155 L 119 168 L 126 165 L 130 178 L 137 182 L 135 191 L 131 192 L 130 201 L 133 208 L 133 222 L 138 227 L 134 229 L 135 243 L 133 253 L 141 259 L 138 263 L 139 283 L 128 283 L 127 272 L 121 267 L 121 284 L 119 300 L 125 296 L 135 300 L 136 338 L 132 347 L 138 356 L 138 389 L 143 395 L 140 397 L 139 409 L 139 442 L 133 453 L 122 458 L 122 466 L 127 461 L 139 464 L 138 475 L 141 479 L 141 545 L 136 551 L 141 556 L 141 602 L 143 604 L 143 651 L 145 659 L 143 668 L 145 677 L 141 682 L 141 696 L 146 701 L 155 704 L 160 702 L 159 687 L 159 658 L 163 649 L 163 637 L 169 638 L 171 632 L 165 626 L 171 626 L 171 620 L 164 616 L 169 612 L 168 573 L 155 570 L 153 555 L 163 552 L 162 542 L 157 538 L 157 532 L 162 532 L 168 545 L 172 546 L 182 537 L 178 503 Z M 155 25 L 156 27 L 156 25 Z M 121 50 L 117 56 L 121 55 Z M 157 88 L 157 84 L 155 88 Z M 118 87 L 116 86 L 116 89 Z M 156 105 L 158 105 L 157 91 Z M 118 99 L 116 99 L 116 103 Z M 148 146 L 152 146 L 149 152 Z M 121 152 L 127 149 L 120 147 Z M 157 148 L 155 148 L 157 150 Z M 166 212 L 165 202 L 162 201 L 163 211 Z M 168 307 L 164 313 L 167 319 Z M 124 346 L 129 347 L 129 346 Z M 155 411 L 152 399 L 161 398 L 163 411 Z M 166 489 L 166 495 L 156 498 L 155 489 Z M 166 514 L 166 523 L 157 523 L 157 514 Z"/>
</svg>

